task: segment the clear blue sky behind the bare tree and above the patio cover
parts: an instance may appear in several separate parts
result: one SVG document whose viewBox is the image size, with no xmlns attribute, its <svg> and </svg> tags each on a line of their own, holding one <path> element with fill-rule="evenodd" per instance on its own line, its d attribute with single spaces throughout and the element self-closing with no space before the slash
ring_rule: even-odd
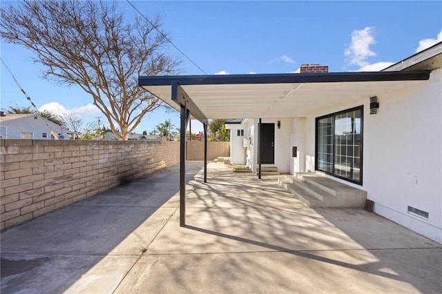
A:
<svg viewBox="0 0 442 294">
<path fill-rule="evenodd" d="M 1 1 L 8 6 L 12 1 Z M 442 41 L 442 1 L 131 1 L 146 17 L 162 16 L 162 29 L 204 72 L 213 74 L 286 73 L 304 63 L 330 72 L 381 70 Z M 130 17 L 137 12 L 119 6 Z M 203 75 L 182 59 L 183 75 Z M 85 122 L 104 119 L 93 99 L 77 87 L 41 79 L 32 52 L 1 41 L 1 58 L 38 108 L 73 111 Z M 1 64 L 1 109 L 30 106 Z M 177 113 L 155 111 L 137 128 L 151 131 Z M 192 131 L 201 130 L 193 123 Z"/>
</svg>

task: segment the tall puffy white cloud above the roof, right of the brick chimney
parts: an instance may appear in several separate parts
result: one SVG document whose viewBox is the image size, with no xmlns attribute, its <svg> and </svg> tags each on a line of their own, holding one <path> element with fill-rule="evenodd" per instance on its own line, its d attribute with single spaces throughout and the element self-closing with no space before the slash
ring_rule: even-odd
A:
<svg viewBox="0 0 442 294">
<path fill-rule="evenodd" d="M 374 40 L 374 28 L 366 27 L 363 30 L 352 32 L 352 42 L 345 49 L 344 55 L 349 58 L 352 66 L 367 66 L 365 61 L 368 57 L 376 56 L 376 53 L 369 49 L 369 46 L 376 43 Z"/>
</svg>

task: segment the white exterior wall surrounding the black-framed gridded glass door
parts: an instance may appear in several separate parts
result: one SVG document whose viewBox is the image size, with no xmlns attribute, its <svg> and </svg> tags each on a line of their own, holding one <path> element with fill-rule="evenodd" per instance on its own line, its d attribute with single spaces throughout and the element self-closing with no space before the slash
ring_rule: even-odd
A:
<svg viewBox="0 0 442 294">
<path fill-rule="evenodd" d="M 379 110 L 369 114 L 369 98 L 307 118 L 306 166 L 314 170 L 315 118 L 364 105 L 363 190 L 374 212 L 442 243 L 442 70 L 424 86 L 378 95 Z M 334 178 L 351 186 L 361 188 Z M 424 219 L 407 212 L 429 213 Z"/>
</svg>

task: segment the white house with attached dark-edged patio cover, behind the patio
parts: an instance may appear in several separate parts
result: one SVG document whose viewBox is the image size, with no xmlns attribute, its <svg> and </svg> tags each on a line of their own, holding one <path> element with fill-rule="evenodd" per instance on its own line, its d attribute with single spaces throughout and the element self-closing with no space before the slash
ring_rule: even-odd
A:
<svg viewBox="0 0 442 294">
<path fill-rule="evenodd" d="M 375 213 L 442 243 L 442 42 L 381 72 L 319 70 L 139 84 L 205 124 L 236 119 L 233 164 L 256 170 L 260 150 L 262 166 L 361 188 Z"/>
</svg>

